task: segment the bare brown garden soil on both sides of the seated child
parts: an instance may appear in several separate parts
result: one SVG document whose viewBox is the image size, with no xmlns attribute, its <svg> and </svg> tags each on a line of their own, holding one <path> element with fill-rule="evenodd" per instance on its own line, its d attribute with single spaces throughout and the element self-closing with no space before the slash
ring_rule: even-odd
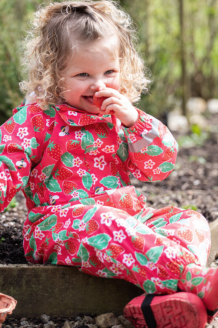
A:
<svg viewBox="0 0 218 328">
<path fill-rule="evenodd" d="M 218 217 L 218 114 L 206 113 L 208 136 L 188 133 L 189 147 L 179 148 L 175 170 L 167 179 L 147 183 L 132 178 L 132 183 L 147 197 L 153 208 L 173 205 L 192 208 L 211 222 Z M 173 133 L 177 141 L 179 132 Z M 187 141 L 187 140 L 186 140 Z M 190 141 L 192 144 L 190 144 Z M 195 142 L 194 142 L 195 141 Z M 22 229 L 27 216 L 25 199 L 16 195 L 18 204 L 0 214 L 0 264 L 27 263 L 23 251 Z"/>
</svg>

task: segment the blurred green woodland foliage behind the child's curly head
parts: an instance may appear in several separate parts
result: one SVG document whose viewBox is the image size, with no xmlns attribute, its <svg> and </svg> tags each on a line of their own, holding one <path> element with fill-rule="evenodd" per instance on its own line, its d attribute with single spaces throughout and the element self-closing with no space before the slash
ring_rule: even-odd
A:
<svg viewBox="0 0 218 328">
<path fill-rule="evenodd" d="M 22 101 L 19 49 L 40 3 L 0 2 L 0 123 Z M 217 97 L 218 0 L 122 0 L 121 5 L 137 25 L 139 49 L 153 75 L 140 109 L 160 118 L 189 96 Z"/>
</svg>

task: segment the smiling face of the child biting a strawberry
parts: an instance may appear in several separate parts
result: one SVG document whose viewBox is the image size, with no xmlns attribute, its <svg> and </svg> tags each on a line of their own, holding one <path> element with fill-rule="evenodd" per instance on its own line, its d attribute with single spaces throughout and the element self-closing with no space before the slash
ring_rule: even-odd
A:
<svg viewBox="0 0 218 328">
<path fill-rule="evenodd" d="M 107 42 L 107 47 L 104 43 Z M 110 43 L 111 42 L 111 48 Z M 99 113 L 93 103 L 93 95 L 100 87 L 120 90 L 120 65 L 118 55 L 112 57 L 111 40 L 93 44 L 93 48 L 84 47 L 73 57 L 68 69 L 64 72 L 66 91 L 63 93 L 70 106 L 92 113 Z"/>
</svg>

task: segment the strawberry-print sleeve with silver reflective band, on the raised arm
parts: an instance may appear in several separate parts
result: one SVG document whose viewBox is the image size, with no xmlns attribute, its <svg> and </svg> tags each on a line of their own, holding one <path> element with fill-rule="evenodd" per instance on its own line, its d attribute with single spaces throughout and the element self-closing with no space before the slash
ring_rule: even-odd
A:
<svg viewBox="0 0 218 328">
<path fill-rule="evenodd" d="M 132 127 L 121 125 L 120 139 L 127 143 L 129 153 L 124 165 L 141 181 L 163 180 L 174 169 L 177 142 L 162 122 L 137 111 L 139 118 Z"/>
</svg>

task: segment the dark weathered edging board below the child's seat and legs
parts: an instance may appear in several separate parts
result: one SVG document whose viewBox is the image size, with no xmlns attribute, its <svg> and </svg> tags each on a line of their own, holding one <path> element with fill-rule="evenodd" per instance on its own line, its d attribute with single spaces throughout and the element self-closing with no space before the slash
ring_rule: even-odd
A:
<svg viewBox="0 0 218 328">
<path fill-rule="evenodd" d="M 12 317 L 77 317 L 123 313 L 125 305 L 143 293 L 128 281 L 95 277 L 75 267 L 0 265 L 0 291 L 17 300 Z"/>
</svg>

